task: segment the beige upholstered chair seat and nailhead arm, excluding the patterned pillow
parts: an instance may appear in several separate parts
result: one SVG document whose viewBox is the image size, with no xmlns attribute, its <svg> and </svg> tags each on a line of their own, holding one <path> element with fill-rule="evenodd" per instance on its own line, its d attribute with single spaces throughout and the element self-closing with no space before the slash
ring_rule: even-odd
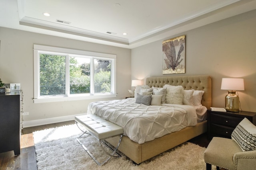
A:
<svg viewBox="0 0 256 170">
<path fill-rule="evenodd" d="M 211 170 L 212 165 L 217 170 L 255 170 L 256 150 L 242 151 L 240 146 L 232 139 L 213 137 L 204 152 L 206 170 Z"/>
</svg>

